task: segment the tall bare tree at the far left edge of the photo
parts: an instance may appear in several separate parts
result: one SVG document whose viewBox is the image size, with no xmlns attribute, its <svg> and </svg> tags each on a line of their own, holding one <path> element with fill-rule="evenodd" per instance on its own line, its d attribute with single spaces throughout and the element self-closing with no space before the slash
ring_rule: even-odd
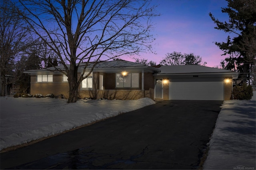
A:
<svg viewBox="0 0 256 170">
<path fill-rule="evenodd" d="M 20 76 L 14 70 L 22 51 L 27 47 L 29 34 L 26 22 L 18 15 L 14 3 L 1 1 L 0 11 L 0 95 L 5 96 L 5 87 Z"/>
</svg>

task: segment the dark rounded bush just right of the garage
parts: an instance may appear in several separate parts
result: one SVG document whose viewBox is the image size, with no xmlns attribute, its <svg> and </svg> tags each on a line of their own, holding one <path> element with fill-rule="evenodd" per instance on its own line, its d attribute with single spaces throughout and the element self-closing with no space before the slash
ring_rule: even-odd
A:
<svg viewBox="0 0 256 170">
<path fill-rule="evenodd" d="M 232 98 L 234 100 L 250 100 L 253 96 L 252 86 L 235 86 L 232 92 Z"/>
</svg>

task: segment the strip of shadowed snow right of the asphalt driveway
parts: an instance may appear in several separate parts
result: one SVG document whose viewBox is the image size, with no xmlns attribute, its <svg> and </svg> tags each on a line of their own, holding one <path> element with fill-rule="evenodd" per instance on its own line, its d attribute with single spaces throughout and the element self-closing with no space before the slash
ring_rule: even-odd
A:
<svg viewBox="0 0 256 170">
<path fill-rule="evenodd" d="M 228 100 L 221 106 L 204 169 L 254 169 L 256 102 Z"/>
</svg>

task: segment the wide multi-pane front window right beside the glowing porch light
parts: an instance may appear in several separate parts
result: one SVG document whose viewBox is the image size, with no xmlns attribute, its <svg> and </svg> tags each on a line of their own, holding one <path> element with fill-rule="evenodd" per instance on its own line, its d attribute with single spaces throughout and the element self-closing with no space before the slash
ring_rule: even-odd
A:
<svg viewBox="0 0 256 170">
<path fill-rule="evenodd" d="M 122 73 L 116 74 L 116 87 L 122 88 L 138 88 L 139 73 L 128 73 L 123 76 Z"/>
</svg>

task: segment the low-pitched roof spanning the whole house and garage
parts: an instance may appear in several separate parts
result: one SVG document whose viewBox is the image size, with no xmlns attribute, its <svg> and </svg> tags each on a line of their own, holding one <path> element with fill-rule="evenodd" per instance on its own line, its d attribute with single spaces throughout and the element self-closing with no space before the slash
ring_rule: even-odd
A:
<svg viewBox="0 0 256 170">
<path fill-rule="evenodd" d="M 78 69 L 83 69 L 86 63 L 81 63 Z M 92 68 L 93 62 L 88 63 L 86 67 L 88 70 Z M 69 66 L 69 64 L 67 65 Z M 159 66 L 158 66 L 159 67 Z M 57 68 L 57 70 L 56 70 Z M 29 74 L 42 74 L 46 72 L 52 72 L 51 74 L 57 74 L 58 70 L 65 71 L 64 66 L 49 67 L 40 70 L 27 70 L 24 73 Z M 200 65 L 172 65 L 172 66 L 160 66 L 159 68 L 147 66 L 145 64 L 134 63 L 125 60 L 115 61 L 100 61 L 94 67 L 96 72 L 119 72 L 119 71 L 141 71 L 154 72 L 154 76 L 177 76 L 177 75 L 190 75 L 190 74 L 218 74 L 221 76 L 238 76 L 238 72 L 231 70 L 224 70 L 219 68 L 211 68 Z"/>
</svg>

